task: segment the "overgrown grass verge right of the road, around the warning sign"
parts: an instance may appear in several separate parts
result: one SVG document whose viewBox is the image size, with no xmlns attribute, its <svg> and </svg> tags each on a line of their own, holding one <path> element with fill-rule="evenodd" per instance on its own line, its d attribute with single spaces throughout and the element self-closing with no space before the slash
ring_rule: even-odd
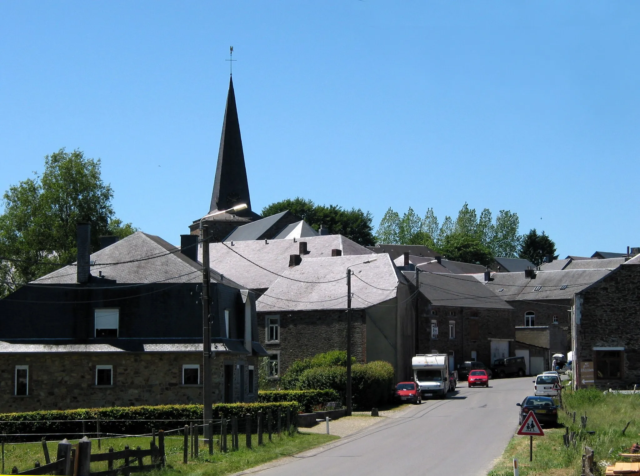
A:
<svg viewBox="0 0 640 476">
<path fill-rule="evenodd" d="M 618 456 L 628 452 L 633 443 L 640 440 L 640 394 L 639 395 L 603 395 L 595 388 L 578 392 L 563 392 L 565 408 L 571 412 L 559 413 L 559 422 L 575 431 L 577 443 L 575 449 L 565 448 L 563 443 L 564 427 L 546 429 L 545 436 L 534 437 L 533 461 L 529 462 L 529 438 L 514 436 L 504 454 L 493 467 L 489 476 L 513 475 L 513 457 L 518 458 L 520 475 L 536 476 L 573 476 L 580 475 L 580 462 L 585 446 L 594 450 L 595 461 L 604 466 L 615 461 L 629 461 Z M 573 411 L 576 422 L 573 424 Z M 586 430 L 580 427 L 580 415 L 587 413 Z M 625 435 L 622 430 L 631 422 Z M 588 431 L 595 431 L 589 435 Z"/>
</svg>

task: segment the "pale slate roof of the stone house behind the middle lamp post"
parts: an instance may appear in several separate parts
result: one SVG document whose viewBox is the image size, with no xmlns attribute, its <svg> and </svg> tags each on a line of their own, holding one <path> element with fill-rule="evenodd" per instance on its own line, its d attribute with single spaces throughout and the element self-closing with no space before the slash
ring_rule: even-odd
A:
<svg viewBox="0 0 640 476">
<path fill-rule="evenodd" d="M 401 278 L 389 255 L 372 254 L 305 258 L 260 296 L 256 308 L 258 312 L 346 309 L 347 267 L 352 265 L 357 266 L 351 267 L 351 307 L 368 308 L 388 301 L 396 297 Z M 359 264 L 372 258 L 376 260 Z"/>
</svg>

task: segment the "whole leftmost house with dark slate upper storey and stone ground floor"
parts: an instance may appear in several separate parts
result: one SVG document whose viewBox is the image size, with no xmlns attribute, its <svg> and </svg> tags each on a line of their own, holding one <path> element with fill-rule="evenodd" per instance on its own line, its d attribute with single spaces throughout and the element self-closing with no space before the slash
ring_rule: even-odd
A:
<svg viewBox="0 0 640 476">
<path fill-rule="evenodd" d="M 0 300 L 0 411 L 202 402 L 202 267 L 197 238 L 176 248 L 136 232 Z M 255 294 L 212 279 L 215 402 L 253 401 Z"/>
</svg>

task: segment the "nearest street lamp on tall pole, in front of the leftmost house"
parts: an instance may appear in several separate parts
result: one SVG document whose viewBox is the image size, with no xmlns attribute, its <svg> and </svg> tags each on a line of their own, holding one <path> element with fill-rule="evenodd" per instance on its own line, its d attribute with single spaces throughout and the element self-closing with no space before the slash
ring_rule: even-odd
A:
<svg viewBox="0 0 640 476">
<path fill-rule="evenodd" d="M 211 319 L 209 314 L 209 237 L 208 226 L 202 225 L 202 220 L 211 216 L 221 215 L 228 212 L 237 212 L 246 209 L 246 203 L 241 203 L 228 210 L 218 210 L 200 218 L 200 242 L 202 243 L 202 393 L 204 393 L 202 420 L 205 427 L 205 434 L 209 440 L 209 450 L 213 448 L 211 441 L 213 434 L 211 426 L 207 423 L 213 419 L 213 399 L 211 395 Z"/>
</svg>

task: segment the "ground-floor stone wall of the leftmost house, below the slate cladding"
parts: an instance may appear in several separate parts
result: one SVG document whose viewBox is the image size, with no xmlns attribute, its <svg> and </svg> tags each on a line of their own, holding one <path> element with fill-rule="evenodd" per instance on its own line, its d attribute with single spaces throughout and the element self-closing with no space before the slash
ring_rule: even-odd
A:
<svg viewBox="0 0 640 476">
<path fill-rule="evenodd" d="M 257 358 L 222 356 L 212 362 L 213 401 L 223 396 L 223 365 L 234 365 L 234 395 L 239 399 L 237 365 L 253 365 L 258 388 Z M 202 386 L 182 385 L 182 365 L 200 365 L 200 353 L 48 353 L 0 354 L 0 412 L 110 406 L 202 403 Z M 15 366 L 29 366 L 29 395 L 14 396 Z M 95 386 L 95 366 L 113 365 L 113 386 Z M 245 369 L 247 369 L 245 367 Z M 244 372 L 244 401 L 249 395 Z"/>
</svg>

